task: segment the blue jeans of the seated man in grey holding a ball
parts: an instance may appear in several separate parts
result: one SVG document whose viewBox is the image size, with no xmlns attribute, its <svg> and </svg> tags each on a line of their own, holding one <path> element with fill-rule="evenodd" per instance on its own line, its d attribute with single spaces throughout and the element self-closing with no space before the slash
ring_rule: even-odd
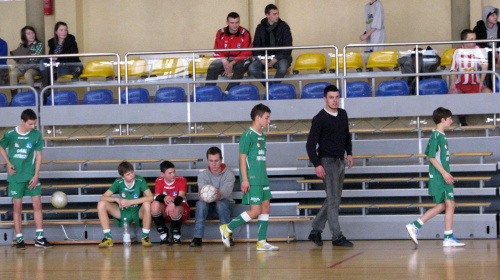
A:
<svg viewBox="0 0 500 280">
<path fill-rule="evenodd" d="M 222 199 L 212 203 L 201 200 L 196 202 L 196 216 L 194 223 L 194 238 L 203 238 L 205 231 L 205 220 L 219 219 L 220 224 L 228 224 L 231 221 L 231 212 L 234 202 Z"/>
</svg>

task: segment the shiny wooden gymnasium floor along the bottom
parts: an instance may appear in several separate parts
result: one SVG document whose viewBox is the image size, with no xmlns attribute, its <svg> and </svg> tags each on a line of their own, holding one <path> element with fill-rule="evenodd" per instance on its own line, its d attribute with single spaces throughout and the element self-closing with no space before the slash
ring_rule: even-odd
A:
<svg viewBox="0 0 500 280">
<path fill-rule="evenodd" d="M 443 248 L 422 240 L 417 250 L 409 240 L 354 241 L 352 249 L 278 242 L 274 252 L 257 252 L 255 243 L 0 246 L 0 279 L 499 279 L 500 241 L 463 241 L 465 248 Z"/>
</svg>

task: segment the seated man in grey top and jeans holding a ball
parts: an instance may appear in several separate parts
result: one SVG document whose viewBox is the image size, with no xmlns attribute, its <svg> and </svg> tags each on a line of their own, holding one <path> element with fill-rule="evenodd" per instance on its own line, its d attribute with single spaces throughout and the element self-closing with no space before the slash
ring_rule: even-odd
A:
<svg viewBox="0 0 500 280">
<path fill-rule="evenodd" d="M 201 246 L 205 220 L 207 218 L 219 219 L 220 224 L 231 221 L 231 212 L 234 208 L 233 188 L 234 174 L 222 163 L 222 152 L 217 147 L 207 150 L 208 169 L 198 175 L 198 195 L 206 185 L 212 185 L 218 189 L 217 199 L 207 203 L 200 199 L 196 202 L 196 216 L 194 224 L 194 237 L 189 246 Z M 231 246 L 233 241 L 230 240 Z"/>
</svg>

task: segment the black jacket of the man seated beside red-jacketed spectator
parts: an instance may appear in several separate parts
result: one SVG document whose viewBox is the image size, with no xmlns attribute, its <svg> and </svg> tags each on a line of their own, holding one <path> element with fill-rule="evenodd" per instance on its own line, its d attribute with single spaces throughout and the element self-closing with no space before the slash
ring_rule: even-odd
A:
<svg viewBox="0 0 500 280">
<path fill-rule="evenodd" d="M 274 37 L 276 38 L 276 47 L 292 46 L 292 32 L 290 31 L 290 26 L 281 19 L 278 20 L 278 26 L 273 30 Z M 255 36 L 253 39 L 253 47 L 270 47 L 269 45 L 269 32 L 266 28 L 269 26 L 267 18 L 264 18 L 257 28 L 255 29 Z M 265 55 L 264 51 L 253 51 L 254 56 Z M 268 55 L 274 55 L 276 59 L 288 59 L 292 62 L 292 50 L 278 50 L 269 51 Z"/>
</svg>

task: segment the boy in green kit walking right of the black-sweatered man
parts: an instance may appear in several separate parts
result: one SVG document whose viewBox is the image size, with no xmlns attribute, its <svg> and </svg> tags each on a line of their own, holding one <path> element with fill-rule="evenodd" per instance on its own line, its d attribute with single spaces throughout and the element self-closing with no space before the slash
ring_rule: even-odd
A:
<svg viewBox="0 0 500 280">
<path fill-rule="evenodd" d="M 418 245 L 417 234 L 425 222 L 437 214 L 444 214 L 444 247 L 465 246 L 453 237 L 453 213 L 455 212 L 455 196 L 453 195 L 453 176 L 450 174 L 450 155 L 448 153 L 448 140 L 444 130 L 453 123 L 451 111 L 443 107 L 434 110 L 432 119 L 436 129 L 432 131 L 425 154 L 429 158 L 429 194 L 436 206 L 427 210 L 420 219 L 406 225 L 411 240 Z"/>
</svg>

